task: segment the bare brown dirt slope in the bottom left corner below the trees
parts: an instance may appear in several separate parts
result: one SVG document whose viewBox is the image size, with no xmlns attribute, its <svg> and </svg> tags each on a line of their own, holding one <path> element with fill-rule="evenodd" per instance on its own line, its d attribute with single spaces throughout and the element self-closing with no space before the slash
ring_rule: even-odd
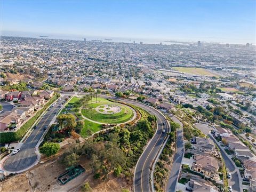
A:
<svg viewBox="0 0 256 192">
<path fill-rule="evenodd" d="M 116 178 L 112 173 L 106 180 L 93 179 L 90 161 L 84 156 L 79 164 L 85 168 L 85 172 L 66 185 L 61 185 L 57 178 L 66 171 L 61 162 L 63 150 L 61 152 L 58 156 L 48 159 L 43 157 L 43 164 L 39 163 L 33 169 L 3 181 L 0 185 L 2 191 L 81 191 L 85 182 L 90 183 L 92 191 L 121 191 L 123 188 L 132 190 L 132 179 Z"/>
</svg>

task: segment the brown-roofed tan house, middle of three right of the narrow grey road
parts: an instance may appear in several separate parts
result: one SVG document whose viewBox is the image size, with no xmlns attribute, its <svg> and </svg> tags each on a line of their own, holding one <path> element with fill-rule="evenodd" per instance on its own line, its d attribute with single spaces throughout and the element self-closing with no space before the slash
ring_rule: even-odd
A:
<svg viewBox="0 0 256 192">
<path fill-rule="evenodd" d="M 203 173 L 212 178 L 218 178 L 219 163 L 217 159 L 210 155 L 194 154 L 196 162 L 193 163 L 191 169 L 199 173 Z"/>
</svg>

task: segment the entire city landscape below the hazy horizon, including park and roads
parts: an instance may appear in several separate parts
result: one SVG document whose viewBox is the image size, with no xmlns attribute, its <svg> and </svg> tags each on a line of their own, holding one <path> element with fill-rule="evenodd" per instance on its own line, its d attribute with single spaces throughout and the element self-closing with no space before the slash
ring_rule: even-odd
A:
<svg viewBox="0 0 256 192">
<path fill-rule="evenodd" d="M 0 188 L 256 191 L 255 51 L 1 36 Z"/>
</svg>

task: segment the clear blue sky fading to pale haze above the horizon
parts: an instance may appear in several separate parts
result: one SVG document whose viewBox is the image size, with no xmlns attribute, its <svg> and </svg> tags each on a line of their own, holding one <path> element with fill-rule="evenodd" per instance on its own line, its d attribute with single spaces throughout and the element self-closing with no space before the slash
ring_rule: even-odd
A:
<svg viewBox="0 0 256 192">
<path fill-rule="evenodd" d="M 0 1 L 0 31 L 253 43 L 256 1 Z"/>
</svg>

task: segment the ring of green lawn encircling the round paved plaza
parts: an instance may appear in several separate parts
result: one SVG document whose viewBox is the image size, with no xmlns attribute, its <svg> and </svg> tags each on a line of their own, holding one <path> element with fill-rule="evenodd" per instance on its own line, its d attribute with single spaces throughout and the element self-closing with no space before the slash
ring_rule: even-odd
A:
<svg viewBox="0 0 256 192">
<path fill-rule="evenodd" d="M 121 107 L 121 111 L 116 114 L 101 114 L 98 113 L 95 108 L 104 105 L 104 104 L 114 104 L 119 107 Z M 92 103 L 90 106 L 93 108 L 92 111 L 82 109 L 82 114 L 90 118 L 94 121 L 100 122 L 100 123 L 124 123 L 129 121 L 133 117 L 133 111 L 130 107 L 121 105 L 119 103 L 113 103 L 113 102 L 100 102 L 100 103 Z"/>
</svg>

